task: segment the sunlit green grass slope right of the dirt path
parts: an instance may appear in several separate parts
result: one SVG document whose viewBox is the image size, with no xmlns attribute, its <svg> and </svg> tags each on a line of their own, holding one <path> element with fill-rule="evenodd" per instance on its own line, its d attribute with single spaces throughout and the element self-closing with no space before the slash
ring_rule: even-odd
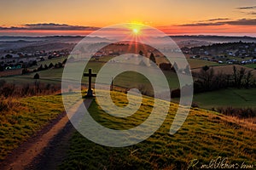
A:
<svg viewBox="0 0 256 170">
<path fill-rule="evenodd" d="M 112 94 L 116 105 L 127 104 L 125 94 Z M 144 97 L 140 109 L 125 118 L 106 114 L 96 101 L 92 102 L 89 111 L 96 122 L 105 127 L 126 129 L 147 119 L 153 104 L 153 99 Z M 183 127 L 170 135 L 168 132 L 176 111 L 177 105 L 171 104 L 160 129 L 143 142 L 128 147 L 102 146 L 74 133 L 68 156 L 59 169 L 187 169 L 193 159 L 199 160 L 197 167 L 200 167 L 218 156 L 228 157 L 238 164 L 243 161 L 255 163 L 256 128 L 241 126 L 234 117 L 230 119 L 217 112 L 195 108 L 190 111 Z"/>
</svg>

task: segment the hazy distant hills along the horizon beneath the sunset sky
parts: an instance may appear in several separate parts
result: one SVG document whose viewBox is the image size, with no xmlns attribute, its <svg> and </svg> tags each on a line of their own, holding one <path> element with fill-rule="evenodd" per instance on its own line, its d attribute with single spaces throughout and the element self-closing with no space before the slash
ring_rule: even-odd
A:
<svg viewBox="0 0 256 170">
<path fill-rule="evenodd" d="M 170 36 L 177 45 L 182 47 L 196 47 L 201 45 L 210 45 L 217 42 L 256 42 L 256 37 L 224 37 L 224 36 Z M 66 48 L 65 43 L 78 43 L 84 37 L 82 36 L 52 36 L 52 37 L 0 37 L 0 52 L 3 50 L 18 50 L 20 48 L 28 48 L 30 46 L 44 46 L 44 50 L 48 51 L 52 47 L 49 44 L 62 43 L 63 48 Z M 164 42 L 167 37 L 152 37 L 154 42 Z M 94 42 L 110 42 L 104 37 L 89 37 L 90 43 Z M 61 48 L 58 44 L 58 47 Z M 50 48 L 48 48 L 50 47 Z M 59 49 L 58 48 L 58 49 Z M 41 48 L 40 48 L 41 49 Z"/>
</svg>

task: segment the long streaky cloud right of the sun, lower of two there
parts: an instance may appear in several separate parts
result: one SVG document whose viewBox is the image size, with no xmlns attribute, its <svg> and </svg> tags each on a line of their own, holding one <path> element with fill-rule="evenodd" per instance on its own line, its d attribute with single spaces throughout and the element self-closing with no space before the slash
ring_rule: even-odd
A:
<svg viewBox="0 0 256 170">
<path fill-rule="evenodd" d="M 256 26 L 256 19 L 240 19 L 240 20 L 225 20 L 225 21 L 217 21 L 217 19 L 207 20 L 205 22 L 197 22 L 192 24 L 184 24 L 180 26 Z"/>
</svg>

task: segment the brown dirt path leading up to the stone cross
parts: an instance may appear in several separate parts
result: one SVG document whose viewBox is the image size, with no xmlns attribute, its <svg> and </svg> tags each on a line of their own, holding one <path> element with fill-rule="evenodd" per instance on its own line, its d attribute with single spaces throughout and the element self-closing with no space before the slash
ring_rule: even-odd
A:
<svg viewBox="0 0 256 170">
<path fill-rule="evenodd" d="M 91 101 L 92 99 L 84 100 L 86 108 L 90 106 Z M 78 108 L 81 103 L 82 101 L 73 105 L 73 108 Z M 74 131 L 66 113 L 61 113 L 57 120 L 21 144 L 1 163 L 1 169 L 55 169 L 65 157 L 68 141 Z"/>
</svg>

